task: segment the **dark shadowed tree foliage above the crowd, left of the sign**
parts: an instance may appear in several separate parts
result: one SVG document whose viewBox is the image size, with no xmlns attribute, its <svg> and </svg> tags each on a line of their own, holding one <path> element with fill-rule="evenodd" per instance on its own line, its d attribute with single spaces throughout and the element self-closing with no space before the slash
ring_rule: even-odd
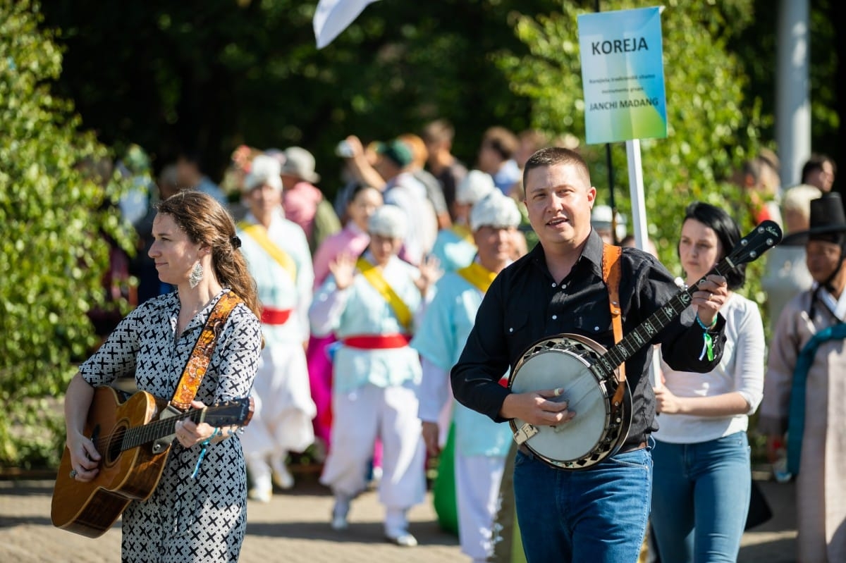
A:
<svg viewBox="0 0 846 563">
<path fill-rule="evenodd" d="M 137 142 L 157 166 L 179 146 L 198 148 L 213 179 L 241 143 L 302 145 L 332 193 L 333 150 L 348 134 L 387 139 L 445 117 L 472 163 L 485 128 L 527 127 L 529 101 L 509 90 L 492 53 L 525 52 L 512 10 L 559 4 L 377 2 L 319 51 L 316 2 L 53 0 L 45 12 L 68 46 L 60 91 L 102 141 Z"/>
</svg>

